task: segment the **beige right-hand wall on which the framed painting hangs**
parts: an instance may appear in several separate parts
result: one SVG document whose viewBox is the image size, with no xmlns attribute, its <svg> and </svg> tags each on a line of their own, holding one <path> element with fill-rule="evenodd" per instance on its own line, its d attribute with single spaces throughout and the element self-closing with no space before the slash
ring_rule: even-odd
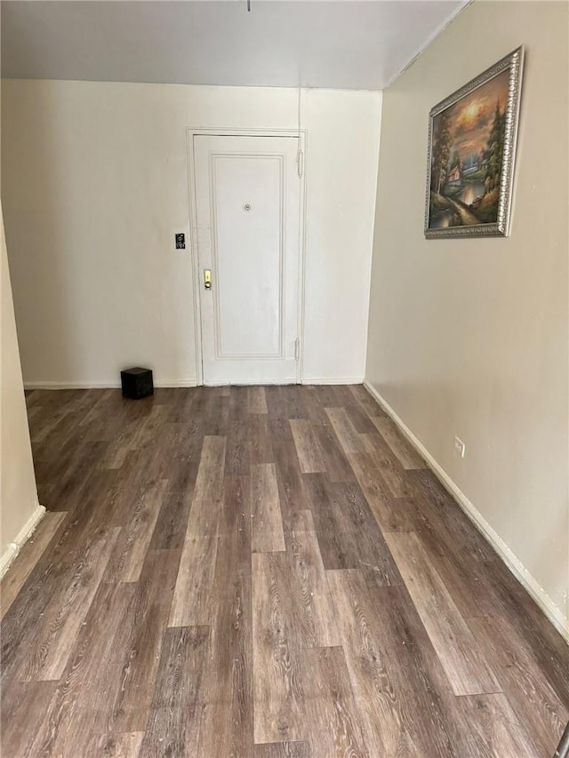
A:
<svg viewBox="0 0 569 758">
<path fill-rule="evenodd" d="M 565 3 L 475 2 L 384 93 L 366 370 L 560 626 L 569 590 L 568 22 Z M 520 44 L 511 234 L 426 241 L 429 108 Z M 454 435 L 465 459 L 453 454 Z"/>
</svg>

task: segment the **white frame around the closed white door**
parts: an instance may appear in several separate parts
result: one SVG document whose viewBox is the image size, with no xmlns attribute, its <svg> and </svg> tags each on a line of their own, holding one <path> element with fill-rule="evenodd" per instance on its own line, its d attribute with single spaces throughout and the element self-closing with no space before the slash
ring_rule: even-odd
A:
<svg viewBox="0 0 569 758">
<path fill-rule="evenodd" d="M 196 203 L 196 161 L 194 137 L 204 134 L 211 137 L 298 137 L 302 151 L 302 176 L 300 177 L 299 208 L 299 283 L 298 283 L 298 335 L 301 340 L 299 360 L 296 362 L 296 383 L 301 384 L 304 358 L 304 296 L 305 296 L 305 255 L 306 243 L 306 172 L 307 172 L 307 129 L 186 129 L 186 155 L 188 158 L 188 206 L 189 237 L 191 251 L 192 291 L 194 294 L 194 339 L 196 345 L 197 386 L 204 384 L 204 350 L 202 344 L 202 308 L 199 279 L 199 251 L 197 248 L 197 203 Z"/>
</svg>

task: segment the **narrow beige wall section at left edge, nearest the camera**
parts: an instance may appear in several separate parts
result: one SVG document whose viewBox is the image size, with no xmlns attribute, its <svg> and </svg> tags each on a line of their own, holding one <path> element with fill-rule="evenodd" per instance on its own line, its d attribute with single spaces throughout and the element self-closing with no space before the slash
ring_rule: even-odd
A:
<svg viewBox="0 0 569 758">
<path fill-rule="evenodd" d="M 10 272 L 0 209 L 2 261 L 2 375 L 0 398 L 0 574 L 43 514 L 36 478 L 12 304 Z"/>
</svg>

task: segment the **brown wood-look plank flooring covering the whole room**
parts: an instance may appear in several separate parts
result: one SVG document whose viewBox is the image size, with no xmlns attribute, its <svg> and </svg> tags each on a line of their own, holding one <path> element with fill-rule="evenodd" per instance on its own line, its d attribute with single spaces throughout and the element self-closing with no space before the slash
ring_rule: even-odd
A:
<svg viewBox="0 0 569 758">
<path fill-rule="evenodd" d="M 2 756 L 550 756 L 569 648 L 363 387 L 40 391 Z"/>
</svg>

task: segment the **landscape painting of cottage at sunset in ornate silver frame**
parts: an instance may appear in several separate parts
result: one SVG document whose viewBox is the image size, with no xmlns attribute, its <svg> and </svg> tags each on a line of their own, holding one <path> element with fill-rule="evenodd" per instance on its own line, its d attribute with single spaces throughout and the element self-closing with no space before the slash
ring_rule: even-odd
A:
<svg viewBox="0 0 569 758">
<path fill-rule="evenodd" d="M 425 236 L 507 236 L 524 66 L 518 47 L 429 113 Z"/>
</svg>

